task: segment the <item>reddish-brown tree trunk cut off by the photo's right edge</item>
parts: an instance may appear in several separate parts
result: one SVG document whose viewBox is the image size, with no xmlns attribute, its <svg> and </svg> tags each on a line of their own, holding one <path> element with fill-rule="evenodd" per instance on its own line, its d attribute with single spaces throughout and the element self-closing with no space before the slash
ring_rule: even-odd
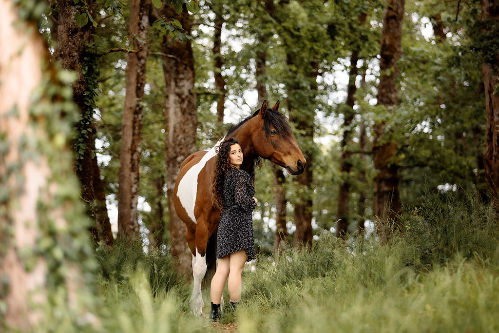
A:
<svg viewBox="0 0 499 333">
<path fill-rule="evenodd" d="M 498 24 L 498 1 L 482 0 L 482 21 L 486 22 L 487 26 Z M 487 112 L 485 174 L 491 199 L 499 214 L 499 56 L 497 53 L 495 55 L 489 53 L 492 53 L 492 51 L 484 51 L 484 58 L 493 57 L 493 64 L 484 60 L 482 65 L 485 86 L 485 107 Z"/>
</svg>

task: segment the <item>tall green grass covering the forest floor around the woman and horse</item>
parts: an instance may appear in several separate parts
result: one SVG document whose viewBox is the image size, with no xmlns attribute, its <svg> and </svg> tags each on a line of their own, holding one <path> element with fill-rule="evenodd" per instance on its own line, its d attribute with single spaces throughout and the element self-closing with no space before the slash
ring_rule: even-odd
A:
<svg viewBox="0 0 499 333">
<path fill-rule="evenodd" d="M 242 333 L 499 332 L 497 216 L 473 198 L 431 198 L 406 212 L 388 245 L 329 235 L 258 258 L 244 271 L 236 319 L 217 326 L 191 315 L 189 282 L 170 255 L 99 248 L 95 308 L 76 320 L 52 312 L 38 332 L 233 332 L 224 324 L 234 320 Z M 204 299 L 207 313 L 207 291 Z"/>
</svg>

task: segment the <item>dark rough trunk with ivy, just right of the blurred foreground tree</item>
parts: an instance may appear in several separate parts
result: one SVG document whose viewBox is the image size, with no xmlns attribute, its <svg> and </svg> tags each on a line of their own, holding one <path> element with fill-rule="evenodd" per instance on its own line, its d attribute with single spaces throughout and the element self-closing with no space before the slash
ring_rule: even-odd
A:
<svg viewBox="0 0 499 333">
<path fill-rule="evenodd" d="M 86 3 L 89 12 L 93 15 L 94 0 L 88 0 Z M 76 176 L 80 180 L 81 198 L 86 203 L 87 215 L 95 220 L 91 150 L 91 123 L 95 92 L 93 88 L 89 88 L 89 84 L 95 84 L 97 81 L 97 67 L 96 56 L 87 46 L 93 42 L 95 28 L 90 21 L 83 27 L 76 24 L 74 15 L 78 9 L 72 0 L 59 0 L 57 6 L 56 57 L 62 68 L 75 71 L 78 75 L 72 86 L 73 101 L 80 110 L 80 120 L 76 124 L 77 137 L 73 143 Z M 83 68 L 85 68 L 85 73 L 83 73 Z"/>
</svg>

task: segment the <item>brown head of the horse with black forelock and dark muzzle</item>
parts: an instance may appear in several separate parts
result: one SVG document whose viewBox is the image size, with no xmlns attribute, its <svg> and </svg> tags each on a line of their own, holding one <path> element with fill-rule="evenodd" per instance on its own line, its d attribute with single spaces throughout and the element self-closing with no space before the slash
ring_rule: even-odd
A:
<svg viewBox="0 0 499 333">
<path fill-rule="evenodd" d="M 286 168 L 290 174 L 299 175 L 305 169 L 306 160 L 286 118 L 278 110 L 279 101 L 268 108 L 265 100 L 248 122 L 253 127 L 250 131 L 253 151 Z"/>
</svg>

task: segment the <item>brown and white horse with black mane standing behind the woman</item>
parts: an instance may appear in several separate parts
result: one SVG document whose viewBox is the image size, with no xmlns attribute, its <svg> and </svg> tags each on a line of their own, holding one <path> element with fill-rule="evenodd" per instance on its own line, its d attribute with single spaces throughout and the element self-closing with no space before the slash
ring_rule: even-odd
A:
<svg viewBox="0 0 499 333">
<path fill-rule="evenodd" d="M 235 137 L 243 148 L 242 170 L 254 170 L 260 158 L 287 169 L 291 175 L 301 174 L 306 160 L 282 113 L 279 101 L 268 108 L 267 101 L 252 115 L 233 125 L 226 136 L 208 151 L 198 151 L 180 166 L 174 188 L 174 206 L 178 217 L 187 226 L 187 243 L 192 252 L 193 292 L 190 305 L 195 315 L 203 315 L 201 282 L 207 271 L 208 239 L 220 224 L 220 211 L 211 201 L 211 175 L 217 147 L 225 138 Z"/>
</svg>

